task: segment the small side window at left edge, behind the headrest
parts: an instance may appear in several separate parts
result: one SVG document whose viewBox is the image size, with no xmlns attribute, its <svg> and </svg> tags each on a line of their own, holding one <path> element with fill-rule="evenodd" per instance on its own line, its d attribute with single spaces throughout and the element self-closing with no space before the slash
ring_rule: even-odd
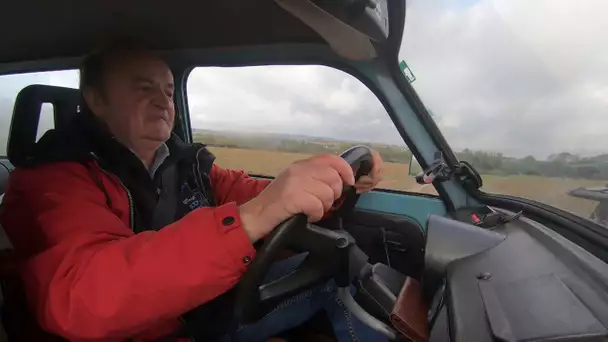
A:
<svg viewBox="0 0 608 342">
<path fill-rule="evenodd" d="M 15 99 L 21 89 L 31 84 L 46 84 L 62 87 L 78 87 L 78 71 L 45 71 L 37 73 L 0 75 L 0 155 L 6 155 L 6 145 L 13 117 Z M 53 128 L 53 106 L 44 104 L 38 123 L 37 137 Z"/>
</svg>

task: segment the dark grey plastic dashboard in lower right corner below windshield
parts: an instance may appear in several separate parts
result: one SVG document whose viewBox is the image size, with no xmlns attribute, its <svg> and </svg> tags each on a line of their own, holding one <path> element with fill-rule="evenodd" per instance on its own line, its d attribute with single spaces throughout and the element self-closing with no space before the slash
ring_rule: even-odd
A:
<svg viewBox="0 0 608 342">
<path fill-rule="evenodd" d="M 581 325 L 574 323 L 579 319 L 586 322 L 597 320 L 603 326 L 608 326 L 608 314 L 605 310 L 608 303 L 606 263 L 583 251 L 567 238 L 551 231 L 547 226 L 526 217 L 494 230 L 505 235 L 506 239 L 493 248 L 456 260 L 447 267 L 446 304 L 453 340 L 467 342 L 498 340 L 495 335 L 498 333 L 502 336 L 504 330 L 501 327 L 504 325 L 496 324 L 497 318 L 506 320 L 512 329 L 514 337 L 508 338 L 510 341 L 595 340 L 585 339 L 588 337 L 587 333 L 594 332 L 588 329 L 581 332 Z M 553 292 L 548 286 L 532 284 L 534 286 L 530 287 L 527 283 L 547 276 L 559 278 L 569 290 L 563 287 L 556 289 L 556 283 L 553 281 L 551 281 Z M 485 286 L 482 283 L 491 285 L 492 289 L 501 293 L 505 289 L 515 290 L 514 287 L 518 287 L 523 292 L 499 295 L 502 298 L 498 309 L 505 309 L 503 315 L 491 308 L 494 303 L 489 301 L 492 298 L 486 296 L 487 293 L 482 293 L 483 290 L 480 288 Z M 556 299 L 551 302 L 547 296 L 536 296 L 534 291 L 541 291 Z M 572 292 L 576 300 L 564 301 L 564 291 Z M 572 296 L 570 298 L 572 299 Z M 577 301 L 580 303 L 576 303 Z M 564 319 L 563 314 L 569 312 L 573 303 L 578 309 L 588 311 L 594 317 L 587 315 L 587 318 L 577 316 Z M 584 308 L 579 305 L 581 303 L 584 304 Z M 554 311 L 558 314 L 555 317 L 546 316 L 544 311 Z M 577 311 L 581 312 L 581 310 Z M 524 312 L 528 317 L 524 318 L 520 315 Z M 538 318 L 533 319 L 529 314 Z M 554 320 L 556 317 L 563 322 L 563 328 L 569 330 L 562 330 L 557 334 L 560 336 L 550 331 L 556 328 Z M 587 324 L 583 326 L 590 327 Z M 522 328 L 525 328 L 525 331 Z M 530 339 L 530 336 L 526 336 L 526 331 L 534 332 L 536 338 Z"/>
</svg>

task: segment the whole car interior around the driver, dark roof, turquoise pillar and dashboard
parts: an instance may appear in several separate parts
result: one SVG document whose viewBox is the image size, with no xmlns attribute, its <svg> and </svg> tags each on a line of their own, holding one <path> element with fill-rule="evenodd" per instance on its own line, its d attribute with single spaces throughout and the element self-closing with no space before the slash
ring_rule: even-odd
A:
<svg viewBox="0 0 608 342">
<path fill-rule="evenodd" d="M 386 6 L 386 32 L 349 22 L 340 12 L 340 6 L 354 10 L 348 1 L 337 2 L 341 5 L 335 15 L 328 14 L 335 9 L 331 6 L 318 11 L 323 1 L 184 0 L 172 3 L 171 8 L 178 10 L 171 10 L 170 16 L 162 1 L 150 1 L 145 10 L 113 1 L 63 1 L 68 3 L 81 15 L 58 10 L 62 7 L 56 2 L 35 1 L 38 11 L 28 22 L 38 24 L 0 38 L 0 51 L 10 51 L 0 52 L 0 73 L 74 67 L 103 32 L 128 32 L 166 57 L 176 79 L 180 124 L 175 133 L 191 142 L 184 84 L 194 66 L 327 65 L 353 75 L 373 91 L 427 176 L 431 170 L 443 172 L 442 177 L 432 174 L 430 181 L 438 196 L 375 190 L 351 195 L 345 210 L 314 225 L 294 216 L 277 227 L 282 234 L 261 247 L 239 285 L 236 314 L 244 321 L 255 321 L 287 296 L 334 278 L 342 288 L 357 288 L 354 297 L 342 293 L 350 312 L 391 340 L 608 338 L 608 233 L 571 213 L 479 190 L 481 178 L 456 158 L 399 69 L 404 1 L 381 2 Z M 356 8 L 366 8 L 356 3 Z M 0 23 L 4 32 L 32 13 L 29 2 L 11 6 L 21 16 Z M 213 13 L 221 14 L 221 20 Z M 267 23 L 270 19 L 272 25 Z M 74 26 L 80 30 L 73 32 Z M 64 44 L 48 43 L 50 34 Z M 79 100 L 78 90 L 72 88 L 30 85 L 21 90 L 11 120 L 8 157 L 0 159 L 2 194 L 12 165 L 36 142 L 43 104 L 53 105 L 54 125 L 59 128 L 78 114 Z M 352 160 L 352 151 L 343 157 L 360 166 L 369 156 L 365 150 L 356 151 L 363 152 Z M 9 251 L 10 242 L 3 242 L 2 250 Z M 261 284 L 279 247 L 309 252 L 307 273 Z M 3 275 L 7 273 L 9 269 L 2 269 Z M 12 320 L 9 302 L 4 298 L 1 313 L 12 342 L 17 339 L 11 336 L 11 327 L 19 323 Z M 278 337 L 315 340 L 319 335 L 311 332 L 334 338 L 322 313 Z"/>
</svg>

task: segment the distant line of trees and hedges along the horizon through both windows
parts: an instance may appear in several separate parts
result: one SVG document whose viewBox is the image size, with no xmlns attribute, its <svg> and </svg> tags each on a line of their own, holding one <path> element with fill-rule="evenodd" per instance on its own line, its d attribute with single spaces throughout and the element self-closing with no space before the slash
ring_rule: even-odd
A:
<svg viewBox="0 0 608 342">
<path fill-rule="evenodd" d="M 286 138 L 284 136 L 224 136 L 208 132 L 196 133 L 194 140 L 216 147 L 274 150 L 305 154 L 340 154 L 353 145 L 359 144 L 356 142 L 317 138 Z M 365 144 L 378 151 L 382 159 L 387 162 L 402 164 L 410 162 L 411 152 L 405 147 L 385 144 Z M 456 153 L 456 155 L 459 160 L 470 162 L 481 174 L 503 176 L 535 175 L 608 180 L 608 154 L 583 158 L 564 152 L 550 155 L 547 160 L 537 160 L 533 156 L 513 158 L 504 156 L 502 153 L 465 149 L 462 152 Z"/>
</svg>

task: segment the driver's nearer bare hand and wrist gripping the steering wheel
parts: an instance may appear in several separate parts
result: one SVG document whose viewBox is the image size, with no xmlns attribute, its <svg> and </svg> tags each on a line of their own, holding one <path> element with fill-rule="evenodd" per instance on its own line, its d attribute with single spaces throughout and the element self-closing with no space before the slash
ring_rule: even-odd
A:
<svg viewBox="0 0 608 342">
<path fill-rule="evenodd" d="M 297 161 L 239 207 L 244 229 L 253 243 L 296 214 L 316 222 L 342 195 L 344 184 L 354 183 L 352 168 L 339 156 L 325 154 Z"/>
</svg>

